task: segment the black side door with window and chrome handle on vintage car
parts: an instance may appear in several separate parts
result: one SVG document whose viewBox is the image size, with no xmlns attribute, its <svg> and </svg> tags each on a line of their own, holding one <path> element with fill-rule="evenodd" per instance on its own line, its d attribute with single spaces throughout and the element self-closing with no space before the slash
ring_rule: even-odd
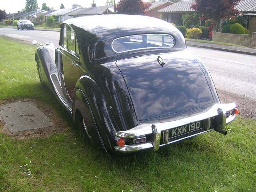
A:
<svg viewBox="0 0 256 192">
<path fill-rule="evenodd" d="M 74 88 L 80 78 L 80 52 L 74 30 L 69 25 L 64 24 L 62 26 L 61 35 L 63 36 L 62 44 L 60 44 L 60 68 L 63 70 L 61 78 L 64 76 L 64 86 L 62 86 L 62 89 L 65 89 L 63 91 L 66 91 L 68 99 L 72 102 Z"/>
</svg>

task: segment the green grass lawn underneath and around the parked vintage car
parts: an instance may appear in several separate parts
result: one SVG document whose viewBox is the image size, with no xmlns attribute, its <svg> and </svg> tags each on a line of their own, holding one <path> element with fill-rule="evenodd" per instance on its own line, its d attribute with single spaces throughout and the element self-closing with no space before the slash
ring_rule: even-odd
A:
<svg viewBox="0 0 256 192">
<path fill-rule="evenodd" d="M 37 98 L 53 106 L 68 129 L 34 139 L 0 132 L 1 192 L 256 191 L 256 121 L 238 117 L 226 136 L 212 131 L 158 152 L 108 156 L 84 143 L 54 96 L 40 85 L 35 50 L 0 37 L 0 101 Z M 22 176 L 28 169 L 32 174 Z"/>
</svg>

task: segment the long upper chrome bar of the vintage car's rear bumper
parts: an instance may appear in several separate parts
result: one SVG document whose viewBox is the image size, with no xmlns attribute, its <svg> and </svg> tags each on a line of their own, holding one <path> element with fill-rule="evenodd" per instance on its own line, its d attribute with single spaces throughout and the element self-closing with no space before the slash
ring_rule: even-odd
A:
<svg viewBox="0 0 256 192">
<path fill-rule="evenodd" d="M 190 124 L 192 122 L 204 120 L 210 117 L 214 117 L 219 115 L 218 109 L 222 109 L 223 112 L 233 110 L 236 108 L 235 103 L 228 103 L 228 104 L 214 104 L 208 111 L 196 114 L 194 116 L 188 116 L 186 118 L 180 119 L 180 120 L 174 120 L 174 121 L 169 121 L 169 122 L 162 122 L 162 123 L 141 123 L 138 124 L 138 126 L 126 130 L 126 131 L 118 131 L 115 132 L 115 136 L 118 136 L 120 138 L 136 138 L 136 137 L 141 137 L 141 136 L 146 136 L 149 134 L 153 134 L 152 132 L 152 124 L 157 127 L 158 130 L 164 131 L 168 130 L 171 128 L 179 127 L 182 125 Z M 226 116 L 226 115 L 225 115 Z M 229 118 L 228 118 L 229 119 Z M 232 121 L 232 120 L 231 120 Z M 226 120 L 225 120 L 226 122 Z"/>
</svg>

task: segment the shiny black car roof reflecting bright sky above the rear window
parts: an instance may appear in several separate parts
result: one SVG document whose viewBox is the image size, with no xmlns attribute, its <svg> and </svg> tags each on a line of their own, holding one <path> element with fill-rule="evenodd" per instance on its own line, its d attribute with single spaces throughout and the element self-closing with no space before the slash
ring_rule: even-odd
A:
<svg viewBox="0 0 256 192">
<path fill-rule="evenodd" d="M 177 29 L 170 23 L 149 16 L 139 15 L 95 15 L 71 18 L 64 23 L 82 28 L 96 36 L 108 38 L 142 33 L 171 33 Z"/>
</svg>

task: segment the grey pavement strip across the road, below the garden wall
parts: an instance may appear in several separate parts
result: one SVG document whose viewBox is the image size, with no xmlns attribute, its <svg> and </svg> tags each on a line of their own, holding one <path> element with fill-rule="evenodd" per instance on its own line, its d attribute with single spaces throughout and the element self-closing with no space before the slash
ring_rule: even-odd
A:
<svg viewBox="0 0 256 192">
<path fill-rule="evenodd" d="M 186 43 L 187 43 L 187 46 L 214 49 L 214 50 L 227 51 L 227 52 L 233 52 L 233 53 L 248 54 L 248 55 L 256 55 L 256 49 L 253 49 L 253 48 L 237 47 L 237 46 L 230 46 L 230 45 L 219 45 L 219 44 L 211 44 L 211 43 L 201 43 L 201 42 L 194 42 L 194 41 L 186 41 Z"/>
</svg>

